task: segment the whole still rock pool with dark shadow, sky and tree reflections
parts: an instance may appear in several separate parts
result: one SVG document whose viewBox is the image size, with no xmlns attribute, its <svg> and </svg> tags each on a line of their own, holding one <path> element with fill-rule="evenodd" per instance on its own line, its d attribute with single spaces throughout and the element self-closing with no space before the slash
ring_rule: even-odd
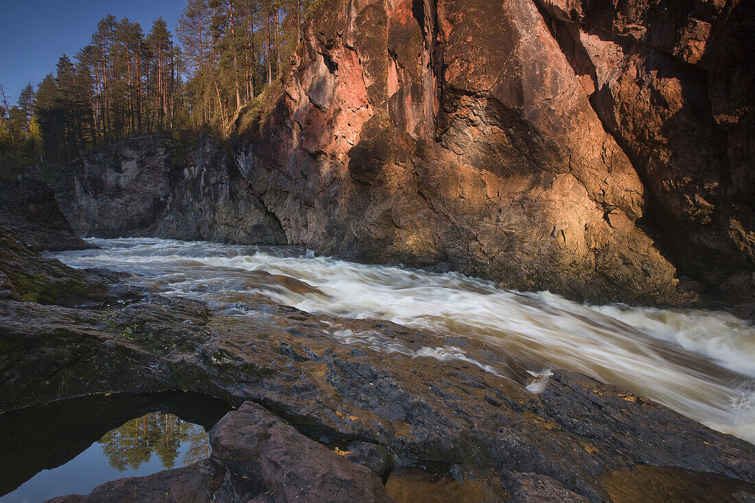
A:
<svg viewBox="0 0 755 503">
<path fill-rule="evenodd" d="M 207 431 L 229 409 L 196 393 L 160 393 L 87 397 L 0 414 L 0 502 L 88 494 L 108 480 L 207 458 Z"/>
</svg>

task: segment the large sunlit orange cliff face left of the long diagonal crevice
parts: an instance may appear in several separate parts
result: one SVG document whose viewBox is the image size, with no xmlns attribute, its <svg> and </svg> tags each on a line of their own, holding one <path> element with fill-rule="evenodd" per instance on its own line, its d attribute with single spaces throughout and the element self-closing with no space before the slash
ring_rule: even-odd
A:
<svg viewBox="0 0 755 503">
<path fill-rule="evenodd" d="M 534 2 L 325 2 L 233 151 L 288 242 L 684 302 L 643 184 Z"/>
</svg>

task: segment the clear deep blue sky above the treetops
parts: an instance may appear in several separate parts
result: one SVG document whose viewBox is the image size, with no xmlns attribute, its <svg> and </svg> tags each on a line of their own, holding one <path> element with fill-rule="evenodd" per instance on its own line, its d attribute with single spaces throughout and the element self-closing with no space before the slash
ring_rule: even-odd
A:
<svg viewBox="0 0 755 503">
<path fill-rule="evenodd" d="M 31 82 L 55 70 L 57 58 L 71 59 L 91 42 L 97 21 L 107 14 L 140 23 L 146 35 L 158 17 L 175 35 L 186 0 L 0 0 L 0 84 L 14 105 Z"/>
</svg>

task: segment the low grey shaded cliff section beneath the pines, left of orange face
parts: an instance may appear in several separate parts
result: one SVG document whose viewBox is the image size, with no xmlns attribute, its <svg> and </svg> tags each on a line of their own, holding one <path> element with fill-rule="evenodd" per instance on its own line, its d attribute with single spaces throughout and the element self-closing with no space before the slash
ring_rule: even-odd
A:
<svg viewBox="0 0 755 503">
<path fill-rule="evenodd" d="M 87 153 L 53 182 L 60 208 L 82 236 L 158 236 L 285 243 L 279 223 L 202 135 L 183 151 L 136 137 Z"/>
</svg>

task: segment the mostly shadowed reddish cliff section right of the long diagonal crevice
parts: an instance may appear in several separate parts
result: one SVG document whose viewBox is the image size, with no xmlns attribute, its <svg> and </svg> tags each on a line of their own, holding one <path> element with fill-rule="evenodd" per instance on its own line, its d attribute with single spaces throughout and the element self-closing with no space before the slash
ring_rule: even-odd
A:
<svg viewBox="0 0 755 503">
<path fill-rule="evenodd" d="M 680 273 L 753 295 L 755 2 L 538 2 Z"/>
</svg>

